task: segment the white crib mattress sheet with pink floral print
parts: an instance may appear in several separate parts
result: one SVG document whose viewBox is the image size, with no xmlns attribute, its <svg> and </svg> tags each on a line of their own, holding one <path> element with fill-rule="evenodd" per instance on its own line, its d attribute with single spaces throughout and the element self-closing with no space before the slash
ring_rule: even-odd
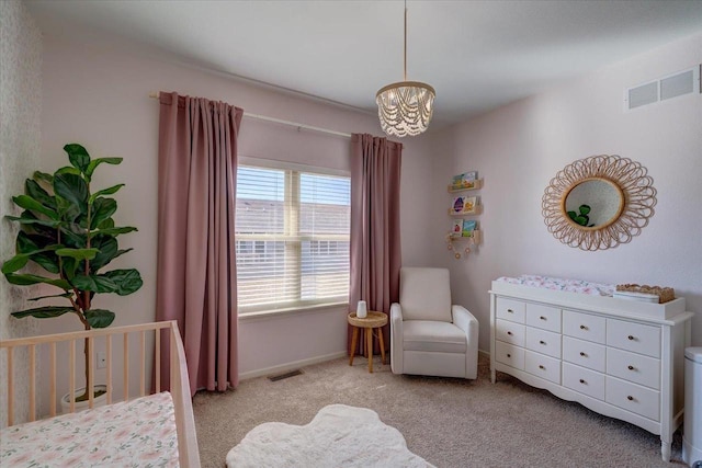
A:
<svg viewBox="0 0 702 468">
<path fill-rule="evenodd" d="M 167 391 L 0 431 L 2 467 L 177 467 Z"/>
</svg>

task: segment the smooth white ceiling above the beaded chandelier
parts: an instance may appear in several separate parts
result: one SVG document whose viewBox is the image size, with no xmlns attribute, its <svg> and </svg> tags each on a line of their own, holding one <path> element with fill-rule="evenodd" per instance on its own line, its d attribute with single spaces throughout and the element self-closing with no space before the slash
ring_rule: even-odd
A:
<svg viewBox="0 0 702 468">
<path fill-rule="evenodd" d="M 367 112 L 380 88 L 403 80 L 401 1 L 25 4 L 45 34 L 139 47 Z M 700 0 L 409 0 L 407 9 L 407 79 L 437 90 L 438 126 L 702 32 Z"/>
</svg>

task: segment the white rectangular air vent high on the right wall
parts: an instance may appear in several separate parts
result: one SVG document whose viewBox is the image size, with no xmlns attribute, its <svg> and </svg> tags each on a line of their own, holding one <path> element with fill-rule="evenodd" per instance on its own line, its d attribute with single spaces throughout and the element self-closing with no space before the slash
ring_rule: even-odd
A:
<svg viewBox="0 0 702 468">
<path fill-rule="evenodd" d="M 700 87 L 699 67 L 690 68 L 675 75 L 658 78 L 637 87 L 629 88 L 624 92 L 624 104 L 627 111 L 654 104 L 660 101 L 678 98 L 686 94 L 702 92 Z"/>
</svg>

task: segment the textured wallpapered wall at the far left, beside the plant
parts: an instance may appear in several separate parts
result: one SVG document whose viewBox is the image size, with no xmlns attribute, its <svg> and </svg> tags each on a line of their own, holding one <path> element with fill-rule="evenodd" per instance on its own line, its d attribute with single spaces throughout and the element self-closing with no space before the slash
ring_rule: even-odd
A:
<svg viewBox="0 0 702 468">
<path fill-rule="evenodd" d="M 42 35 L 20 0 L 0 1 L 0 261 L 14 253 L 16 228 L 4 219 L 18 215 L 12 195 L 38 168 L 42 111 Z M 24 336 L 36 330 L 34 319 L 18 320 L 29 288 L 12 287 L 0 277 L 0 339 Z M 26 356 L 15 357 L 15 422 L 29 412 Z M 7 357 L 0 353 L 0 427 L 7 425 Z"/>
</svg>

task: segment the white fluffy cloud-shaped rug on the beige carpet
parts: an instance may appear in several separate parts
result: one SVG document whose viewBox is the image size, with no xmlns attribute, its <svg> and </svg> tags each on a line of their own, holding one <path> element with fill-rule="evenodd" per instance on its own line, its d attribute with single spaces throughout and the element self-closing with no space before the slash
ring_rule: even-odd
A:
<svg viewBox="0 0 702 468">
<path fill-rule="evenodd" d="M 330 404 L 307 425 L 267 422 L 227 454 L 227 467 L 433 467 L 365 408 Z"/>
</svg>

